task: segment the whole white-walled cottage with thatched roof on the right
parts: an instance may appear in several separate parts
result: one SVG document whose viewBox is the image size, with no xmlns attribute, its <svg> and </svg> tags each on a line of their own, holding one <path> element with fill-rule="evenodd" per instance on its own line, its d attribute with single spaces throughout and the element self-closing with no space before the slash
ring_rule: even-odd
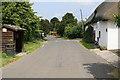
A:
<svg viewBox="0 0 120 80">
<path fill-rule="evenodd" d="M 120 49 L 120 28 L 115 24 L 113 14 L 120 14 L 119 2 L 103 2 L 87 19 L 85 26 L 94 28 L 95 40 L 108 50 Z"/>
</svg>

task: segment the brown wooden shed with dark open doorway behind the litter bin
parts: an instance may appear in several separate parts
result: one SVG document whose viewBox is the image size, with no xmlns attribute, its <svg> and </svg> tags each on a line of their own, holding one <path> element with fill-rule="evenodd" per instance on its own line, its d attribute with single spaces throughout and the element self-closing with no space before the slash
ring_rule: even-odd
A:
<svg viewBox="0 0 120 80">
<path fill-rule="evenodd" d="M 14 44 L 15 52 L 22 52 L 24 47 L 24 28 L 15 25 L 2 25 L 2 52 L 6 44 Z"/>
</svg>

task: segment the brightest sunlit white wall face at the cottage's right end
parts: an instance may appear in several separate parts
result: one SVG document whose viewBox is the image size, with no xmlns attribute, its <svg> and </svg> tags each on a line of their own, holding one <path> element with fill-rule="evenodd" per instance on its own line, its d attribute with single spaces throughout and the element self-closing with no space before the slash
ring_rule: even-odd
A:
<svg viewBox="0 0 120 80">
<path fill-rule="evenodd" d="M 116 27 L 114 21 L 108 21 L 108 50 L 120 49 L 119 31 L 120 29 Z"/>
</svg>

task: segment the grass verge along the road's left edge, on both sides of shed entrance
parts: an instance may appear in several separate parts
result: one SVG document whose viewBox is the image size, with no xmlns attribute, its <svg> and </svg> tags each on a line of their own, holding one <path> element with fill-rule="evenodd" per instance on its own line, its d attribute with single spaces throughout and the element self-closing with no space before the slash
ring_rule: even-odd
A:
<svg viewBox="0 0 120 80">
<path fill-rule="evenodd" d="M 31 52 L 35 51 L 36 49 L 38 49 L 42 46 L 40 44 L 40 42 L 43 42 L 43 41 L 47 41 L 47 39 L 36 39 L 33 41 L 25 42 L 24 43 L 24 52 L 31 53 Z M 23 57 L 23 56 L 15 56 L 13 58 L 13 57 L 7 56 L 5 53 L 1 52 L 0 53 L 0 68 L 4 67 L 12 62 L 17 61 L 21 57 Z"/>
</svg>

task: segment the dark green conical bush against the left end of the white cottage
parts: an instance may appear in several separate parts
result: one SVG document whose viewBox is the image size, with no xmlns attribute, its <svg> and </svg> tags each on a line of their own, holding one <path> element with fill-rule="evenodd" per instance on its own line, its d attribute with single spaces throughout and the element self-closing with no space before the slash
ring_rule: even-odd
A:
<svg viewBox="0 0 120 80">
<path fill-rule="evenodd" d="M 85 31 L 84 36 L 83 36 L 83 41 L 87 43 L 93 43 L 94 40 L 94 31 L 91 26 L 88 27 L 88 29 Z"/>
</svg>

